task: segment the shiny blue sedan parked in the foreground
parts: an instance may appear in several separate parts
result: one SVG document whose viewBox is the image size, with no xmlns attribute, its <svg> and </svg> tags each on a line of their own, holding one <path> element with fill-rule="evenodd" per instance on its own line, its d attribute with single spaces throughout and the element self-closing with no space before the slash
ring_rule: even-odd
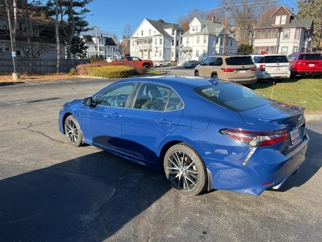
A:
<svg viewBox="0 0 322 242">
<path fill-rule="evenodd" d="M 304 111 L 217 79 L 134 78 L 65 103 L 59 130 L 74 146 L 164 169 L 186 195 L 260 195 L 278 189 L 304 161 Z"/>
</svg>

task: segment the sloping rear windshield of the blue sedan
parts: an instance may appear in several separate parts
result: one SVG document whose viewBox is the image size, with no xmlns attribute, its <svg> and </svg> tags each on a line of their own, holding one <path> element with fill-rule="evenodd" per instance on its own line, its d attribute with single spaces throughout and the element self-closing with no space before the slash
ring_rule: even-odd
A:
<svg viewBox="0 0 322 242">
<path fill-rule="evenodd" d="M 272 102 L 267 97 L 234 83 L 198 87 L 194 91 L 203 98 L 236 112 L 246 111 Z"/>
</svg>

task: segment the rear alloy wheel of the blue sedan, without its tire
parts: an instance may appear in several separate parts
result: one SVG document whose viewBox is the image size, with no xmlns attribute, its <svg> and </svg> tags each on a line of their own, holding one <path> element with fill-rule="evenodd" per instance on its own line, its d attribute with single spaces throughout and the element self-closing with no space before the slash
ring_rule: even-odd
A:
<svg viewBox="0 0 322 242">
<path fill-rule="evenodd" d="M 194 160 L 186 153 L 176 151 L 167 162 L 169 179 L 180 190 L 194 189 L 198 181 L 198 170 Z"/>
</svg>

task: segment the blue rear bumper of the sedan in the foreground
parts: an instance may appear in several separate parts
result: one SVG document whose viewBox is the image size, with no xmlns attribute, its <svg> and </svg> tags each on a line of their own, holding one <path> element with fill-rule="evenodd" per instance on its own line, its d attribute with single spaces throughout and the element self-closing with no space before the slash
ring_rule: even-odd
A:
<svg viewBox="0 0 322 242">
<path fill-rule="evenodd" d="M 218 162 L 205 158 L 204 161 L 211 173 L 212 189 L 256 196 L 271 187 L 278 189 L 279 185 L 282 185 L 291 174 L 296 173 L 303 163 L 308 141 L 308 135 L 305 133 L 301 144 L 286 155 L 275 148 L 258 148 L 245 165 L 242 163 L 252 148 L 238 162 Z"/>
</svg>

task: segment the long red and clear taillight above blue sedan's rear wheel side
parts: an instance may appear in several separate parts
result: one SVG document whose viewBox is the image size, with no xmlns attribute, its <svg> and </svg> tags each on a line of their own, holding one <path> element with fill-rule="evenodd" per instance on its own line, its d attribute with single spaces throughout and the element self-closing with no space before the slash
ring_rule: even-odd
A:
<svg viewBox="0 0 322 242">
<path fill-rule="evenodd" d="M 256 147 L 277 144 L 285 140 L 288 134 L 287 130 L 256 132 L 240 129 L 223 129 L 219 132 L 231 139 Z"/>
</svg>

